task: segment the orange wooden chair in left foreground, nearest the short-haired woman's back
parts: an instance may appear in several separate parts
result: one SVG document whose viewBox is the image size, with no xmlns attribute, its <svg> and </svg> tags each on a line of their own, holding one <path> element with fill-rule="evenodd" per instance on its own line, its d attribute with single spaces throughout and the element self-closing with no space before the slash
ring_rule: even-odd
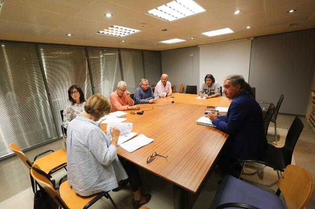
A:
<svg viewBox="0 0 315 209">
<path fill-rule="evenodd" d="M 43 171 L 39 169 L 37 165 L 33 165 L 31 168 L 31 175 L 34 180 L 48 193 L 48 195 L 58 204 L 59 207 L 69 208 L 88 208 L 93 205 L 101 197 L 105 196 L 110 199 L 114 207 L 117 209 L 117 205 L 108 192 L 99 192 L 90 196 L 80 196 L 72 190 L 69 186 L 66 176 L 60 180 L 59 192 L 56 191 L 50 179 L 45 175 Z M 65 181 L 64 181 L 65 180 Z"/>
</svg>

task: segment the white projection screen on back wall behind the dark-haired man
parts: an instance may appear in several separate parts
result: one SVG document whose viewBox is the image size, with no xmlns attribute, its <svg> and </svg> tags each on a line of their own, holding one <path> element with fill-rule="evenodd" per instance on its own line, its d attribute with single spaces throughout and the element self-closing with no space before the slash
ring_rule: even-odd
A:
<svg viewBox="0 0 315 209">
<path fill-rule="evenodd" d="M 242 75 L 248 82 L 251 40 L 200 45 L 200 77 L 212 74 L 220 86 L 231 74 Z"/>
</svg>

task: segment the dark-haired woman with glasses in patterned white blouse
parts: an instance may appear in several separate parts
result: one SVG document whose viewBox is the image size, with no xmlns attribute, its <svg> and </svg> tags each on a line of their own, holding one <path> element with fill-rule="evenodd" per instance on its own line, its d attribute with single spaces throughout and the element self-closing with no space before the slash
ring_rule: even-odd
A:
<svg viewBox="0 0 315 209">
<path fill-rule="evenodd" d="M 68 124 L 77 115 L 84 112 L 85 98 L 82 89 L 77 85 L 72 85 L 68 89 L 69 102 L 64 109 L 64 127 L 68 128 Z"/>
</svg>

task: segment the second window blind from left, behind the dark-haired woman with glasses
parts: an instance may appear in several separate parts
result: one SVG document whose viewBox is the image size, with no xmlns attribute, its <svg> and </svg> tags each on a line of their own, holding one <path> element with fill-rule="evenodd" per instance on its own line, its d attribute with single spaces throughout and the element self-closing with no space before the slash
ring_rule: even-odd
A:
<svg viewBox="0 0 315 209">
<path fill-rule="evenodd" d="M 74 84 L 80 86 L 85 99 L 92 95 L 85 48 L 49 45 L 39 45 L 38 48 L 51 97 L 51 107 L 61 135 L 60 110 L 63 110 L 69 101 L 69 87 Z"/>
</svg>

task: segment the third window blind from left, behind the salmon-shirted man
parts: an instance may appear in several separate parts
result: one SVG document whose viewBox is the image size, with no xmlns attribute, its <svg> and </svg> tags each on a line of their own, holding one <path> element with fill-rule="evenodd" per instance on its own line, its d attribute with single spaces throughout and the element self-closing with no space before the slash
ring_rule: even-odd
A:
<svg viewBox="0 0 315 209">
<path fill-rule="evenodd" d="M 88 48 L 94 92 L 110 98 L 122 80 L 118 49 Z"/>
</svg>

